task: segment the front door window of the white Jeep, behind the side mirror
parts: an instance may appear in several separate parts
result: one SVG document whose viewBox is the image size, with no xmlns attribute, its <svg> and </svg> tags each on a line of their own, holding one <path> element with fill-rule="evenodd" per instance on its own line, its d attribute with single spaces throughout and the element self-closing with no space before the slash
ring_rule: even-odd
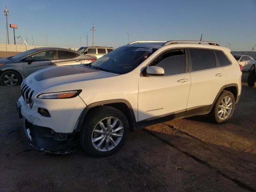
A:
<svg viewBox="0 0 256 192">
<path fill-rule="evenodd" d="M 181 74 L 185 72 L 185 50 L 172 50 L 159 56 L 150 66 L 158 66 L 164 69 L 164 76 Z"/>
</svg>

